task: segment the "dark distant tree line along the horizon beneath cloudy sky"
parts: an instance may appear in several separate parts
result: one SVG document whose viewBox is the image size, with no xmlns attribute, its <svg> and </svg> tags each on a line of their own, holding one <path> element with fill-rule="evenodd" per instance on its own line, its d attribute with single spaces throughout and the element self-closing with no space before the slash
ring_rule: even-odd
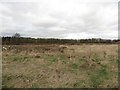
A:
<svg viewBox="0 0 120 90">
<path fill-rule="evenodd" d="M 24 44 L 82 44 L 82 43 L 105 43 L 105 44 L 115 44 L 119 43 L 120 40 L 110 40 L 101 38 L 92 39 L 55 39 L 55 38 L 26 38 L 21 37 L 19 33 L 14 34 L 12 37 L 2 37 L 3 45 L 24 45 Z"/>
</svg>

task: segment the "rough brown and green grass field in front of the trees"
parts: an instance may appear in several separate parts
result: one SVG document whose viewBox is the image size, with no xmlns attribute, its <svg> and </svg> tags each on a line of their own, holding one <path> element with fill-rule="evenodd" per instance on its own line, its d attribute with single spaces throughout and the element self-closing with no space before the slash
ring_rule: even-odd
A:
<svg viewBox="0 0 120 90">
<path fill-rule="evenodd" d="M 118 45 L 6 45 L 3 88 L 118 87 Z"/>
</svg>

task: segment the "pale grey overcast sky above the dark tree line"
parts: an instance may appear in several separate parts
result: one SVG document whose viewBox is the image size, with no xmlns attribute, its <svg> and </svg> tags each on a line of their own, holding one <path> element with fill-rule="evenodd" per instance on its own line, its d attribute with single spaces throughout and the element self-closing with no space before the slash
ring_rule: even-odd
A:
<svg viewBox="0 0 120 90">
<path fill-rule="evenodd" d="M 105 0 L 104 0 L 105 1 Z M 0 2 L 3 36 L 35 38 L 118 38 L 118 2 L 39 0 Z"/>
</svg>

